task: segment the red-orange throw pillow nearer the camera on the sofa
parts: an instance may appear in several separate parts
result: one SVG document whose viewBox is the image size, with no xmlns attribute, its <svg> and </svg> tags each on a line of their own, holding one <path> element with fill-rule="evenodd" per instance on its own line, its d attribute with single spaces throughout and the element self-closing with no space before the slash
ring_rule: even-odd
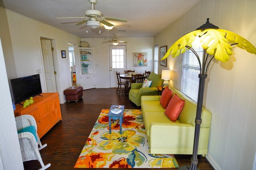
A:
<svg viewBox="0 0 256 170">
<path fill-rule="evenodd" d="M 166 114 L 166 116 L 169 117 L 171 121 L 175 122 L 178 119 L 184 105 L 185 100 L 182 100 L 177 96 L 177 94 L 175 94 L 170 100 L 166 110 L 164 111 L 164 114 Z"/>
</svg>

